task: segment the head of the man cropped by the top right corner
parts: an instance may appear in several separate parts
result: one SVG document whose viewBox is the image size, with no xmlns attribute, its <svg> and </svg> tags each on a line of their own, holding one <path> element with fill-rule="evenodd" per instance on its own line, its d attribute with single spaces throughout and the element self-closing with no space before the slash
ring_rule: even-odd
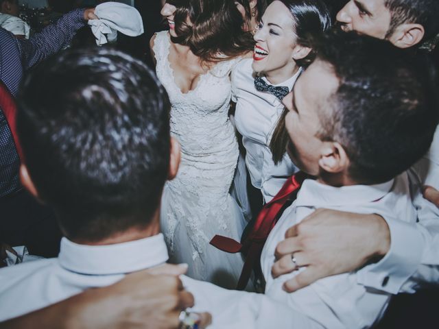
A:
<svg viewBox="0 0 439 329">
<path fill-rule="evenodd" d="M 338 12 L 345 31 L 388 39 L 408 48 L 439 33 L 437 0 L 349 0 Z"/>
</svg>

